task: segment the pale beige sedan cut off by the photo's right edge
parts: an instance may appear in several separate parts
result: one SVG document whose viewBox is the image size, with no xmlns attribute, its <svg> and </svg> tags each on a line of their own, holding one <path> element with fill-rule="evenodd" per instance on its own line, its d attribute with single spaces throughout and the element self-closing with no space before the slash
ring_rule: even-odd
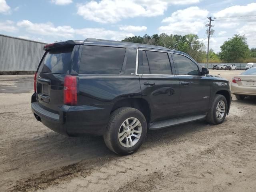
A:
<svg viewBox="0 0 256 192">
<path fill-rule="evenodd" d="M 246 96 L 256 96 L 256 67 L 252 67 L 232 79 L 231 93 L 238 100 L 243 100 Z"/>
</svg>

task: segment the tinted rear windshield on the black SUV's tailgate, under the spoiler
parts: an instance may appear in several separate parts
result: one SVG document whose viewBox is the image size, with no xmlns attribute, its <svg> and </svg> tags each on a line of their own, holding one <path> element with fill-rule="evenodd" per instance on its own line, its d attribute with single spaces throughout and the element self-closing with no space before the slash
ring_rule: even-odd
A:
<svg viewBox="0 0 256 192">
<path fill-rule="evenodd" d="M 71 68 L 71 54 L 74 46 L 54 48 L 48 50 L 40 67 L 39 72 L 66 74 Z"/>
</svg>

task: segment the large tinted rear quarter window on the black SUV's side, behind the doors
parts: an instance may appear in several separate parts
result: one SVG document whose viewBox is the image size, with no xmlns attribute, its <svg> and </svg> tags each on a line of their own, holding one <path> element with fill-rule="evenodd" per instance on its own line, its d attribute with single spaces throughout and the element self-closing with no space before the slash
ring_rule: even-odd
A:
<svg viewBox="0 0 256 192">
<path fill-rule="evenodd" d="M 79 74 L 119 74 L 125 51 L 125 48 L 85 45 Z"/>
</svg>

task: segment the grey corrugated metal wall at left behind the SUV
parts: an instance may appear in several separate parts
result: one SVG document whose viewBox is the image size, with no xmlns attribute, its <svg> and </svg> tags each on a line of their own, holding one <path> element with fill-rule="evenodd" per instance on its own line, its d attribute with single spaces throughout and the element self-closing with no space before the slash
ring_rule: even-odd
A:
<svg viewBox="0 0 256 192">
<path fill-rule="evenodd" d="M 36 71 L 44 45 L 0 34 L 0 72 Z"/>
</svg>

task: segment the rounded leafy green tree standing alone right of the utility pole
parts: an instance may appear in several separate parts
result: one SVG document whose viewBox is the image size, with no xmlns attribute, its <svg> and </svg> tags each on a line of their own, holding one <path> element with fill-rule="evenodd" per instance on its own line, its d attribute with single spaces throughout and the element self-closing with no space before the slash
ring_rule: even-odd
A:
<svg viewBox="0 0 256 192">
<path fill-rule="evenodd" d="M 235 34 L 234 37 L 225 41 L 220 49 L 220 59 L 225 62 L 241 62 L 249 55 L 246 37 L 239 34 Z"/>
</svg>

